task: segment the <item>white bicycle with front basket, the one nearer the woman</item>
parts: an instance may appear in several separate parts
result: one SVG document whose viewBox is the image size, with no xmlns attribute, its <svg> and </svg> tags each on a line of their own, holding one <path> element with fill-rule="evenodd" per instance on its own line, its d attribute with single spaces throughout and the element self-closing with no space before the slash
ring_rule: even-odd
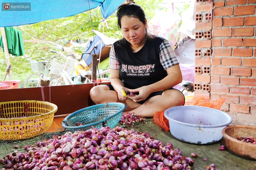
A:
<svg viewBox="0 0 256 170">
<path fill-rule="evenodd" d="M 57 53 L 55 56 L 62 56 L 62 60 L 66 60 L 65 62 L 61 61 L 61 59 L 53 59 L 50 69 L 50 76 L 52 80 L 50 81 L 50 86 L 57 85 L 74 85 L 74 81 L 72 80 L 73 72 L 75 70 L 75 64 L 79 64 L 79 61 L 74 57 L 73 54 L 64 55 L 61 52 L 50 50 L 52 53 Z M 73 56 L 70 58 L 69 56 Z"/>
</svg>

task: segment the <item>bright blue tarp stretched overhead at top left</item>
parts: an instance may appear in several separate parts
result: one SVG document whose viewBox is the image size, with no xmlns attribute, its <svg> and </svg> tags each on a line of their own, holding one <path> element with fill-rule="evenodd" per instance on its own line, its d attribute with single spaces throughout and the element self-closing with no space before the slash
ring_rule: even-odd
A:
<svg viewBox="0 0 256 170">
<path fill-rule="evenodd" d="M 100 5 L 104 19 L 125 0 L 17 0 L 1 1 L 0 27 L 33 24 L 44 20 L 69 17 Z"/>
</svg>

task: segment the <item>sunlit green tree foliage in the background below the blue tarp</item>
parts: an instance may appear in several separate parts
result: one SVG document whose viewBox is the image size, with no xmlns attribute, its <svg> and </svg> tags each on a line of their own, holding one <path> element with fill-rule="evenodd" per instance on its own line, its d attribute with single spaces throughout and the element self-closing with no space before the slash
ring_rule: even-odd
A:
<svg viewBox="0 0 256 170">
<path fill-rule="evenodd" d="M 141 5 L 147 15 L 147 20 L 152 19 L 156 10 L 161 10 L 159 4 L 163 0 L 137 0 L 136 4 Z M 92 17 L 90 17 L 92 15 Z M 10 55 L 12 63 L 12 75 L 24 75 L 32 73 L 29 61 L 39 58 L 50 58 L 52 53 L 50 49 L 57 49 L 56 44 L 66 46 L 67 42 L 76 41 L 76 39 L 93 39 L 92 29 L 103 32 L 109 37 L 121 38 L 122 34 L 117 27 L 115 13 L 102 22 L 100 8 L 83 12 L 71 17 L 46 20 L 35 24 L 17 26 L 22 31 L 24 40 L 25 55 L 16 57 Z M 106 25 L 107 24 L 107 25 Z M 72 47 L 75 53 L 81 54 L 83 48 Z M 6 70 L 5 54 L 0 50 L 0 79 L 2 79 Z M 8 78 L 8 76 L 7 76 Z"/>
</svg>

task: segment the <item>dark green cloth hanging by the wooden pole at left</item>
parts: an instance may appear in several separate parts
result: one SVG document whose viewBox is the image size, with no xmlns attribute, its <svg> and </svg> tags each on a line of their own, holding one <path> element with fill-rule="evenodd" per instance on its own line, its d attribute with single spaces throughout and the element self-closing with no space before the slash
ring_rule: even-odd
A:
<svg viewBox="0 0 256 170">
<path fill-rule="evenodd" d="M 5 35 L 9 54 L 12 54 L 14 56 L 23 56 L 25 54 L 25 50 L 22 32 L 14 27 L 5 27 Z M 0 46 L 3 48 L 2 36 L 0 38 Z"/>
</svg>

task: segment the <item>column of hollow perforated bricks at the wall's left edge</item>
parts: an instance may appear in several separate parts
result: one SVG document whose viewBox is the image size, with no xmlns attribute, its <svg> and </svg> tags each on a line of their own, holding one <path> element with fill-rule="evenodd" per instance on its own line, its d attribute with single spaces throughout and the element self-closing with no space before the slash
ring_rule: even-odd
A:
<svg viewBox="0 0 256 170">
<path fill-rule="evenodd" d="M 195 95 L 210 95 L 213 2 L 196 0 Z"/>
</svg>

